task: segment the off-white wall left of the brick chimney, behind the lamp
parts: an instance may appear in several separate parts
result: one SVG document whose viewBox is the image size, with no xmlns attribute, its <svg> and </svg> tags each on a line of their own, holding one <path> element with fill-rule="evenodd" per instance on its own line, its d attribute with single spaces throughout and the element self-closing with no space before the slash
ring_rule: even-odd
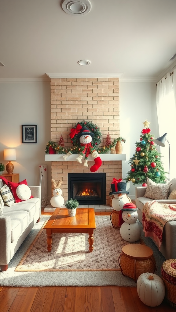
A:
<svg viewBox="0 0 176 312">
<path fill-rule="evenodd" d="M 20 181 L 26 179 L 28 185 L 39 185 L 39 165 L 47 164 L 51 192 L 51 163 L 44 161 L 51 139 L 50 82 L 1 82 L 0 105 L 0 162 L 7 164 L 5 148 L 16 148 L 13 173 L 19 173 Z M 22 144 L 22 124 L 37 124 L 37 144 Z"/>
</svg>

